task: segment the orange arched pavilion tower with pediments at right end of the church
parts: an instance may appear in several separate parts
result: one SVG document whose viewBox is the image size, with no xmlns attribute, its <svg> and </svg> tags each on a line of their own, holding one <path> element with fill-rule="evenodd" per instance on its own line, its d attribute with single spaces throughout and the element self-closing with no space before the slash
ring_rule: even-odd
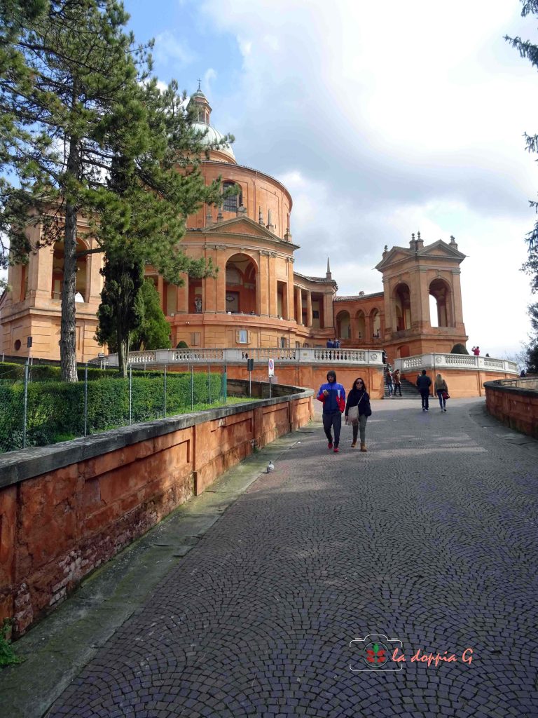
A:
<svg viewBox="0 0 538 718">
<path fill-rule="evenodd" d="M 390 358 L 430 352 L 450 352 L 465 344 L 461 305 L 460 264 L 465 255 L 453 237 L 424 245 L 420 232 L 409 248 L 383 252 L 376 269 L 383 276 L 384 342 Z M 430 317 L 430 296 L 436 317 Z"/>
</svg>

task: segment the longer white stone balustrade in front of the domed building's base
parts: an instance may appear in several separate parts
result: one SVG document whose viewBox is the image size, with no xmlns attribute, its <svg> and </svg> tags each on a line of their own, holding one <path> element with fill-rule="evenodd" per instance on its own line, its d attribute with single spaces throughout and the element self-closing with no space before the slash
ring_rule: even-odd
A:
<svg viewBox="0 0 538 718">
<path fill-rule="evenodd" d="M 297 348 L 238 348 L 238 349 L 156 349 L 129 353 L 133 365 L 169 364 L 233 364 L 253 359 L 255 364 L 265 364 L 273 359 L 275 364 L 326 364 L 341 363 L 354 365 L 382 365 L 382 354 L 371 349 L 324 349 L 313 347 Z M 92 359 L 90 364 L 118 366 L 118 355 Z"/>
</svg>

